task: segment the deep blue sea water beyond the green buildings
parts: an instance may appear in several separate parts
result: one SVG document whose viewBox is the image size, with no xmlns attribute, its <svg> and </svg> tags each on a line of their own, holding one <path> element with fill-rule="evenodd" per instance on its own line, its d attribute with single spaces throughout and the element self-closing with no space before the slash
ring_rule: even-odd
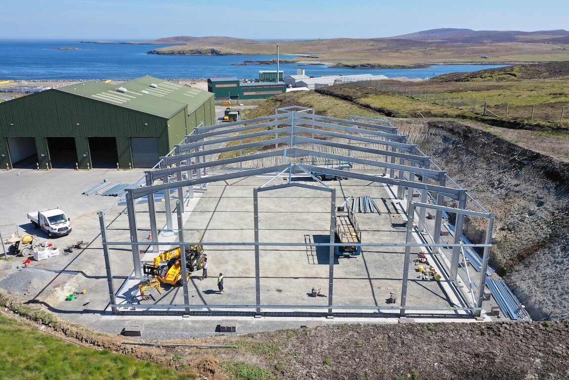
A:
<svg viewBox="0 0 569 380">
<path fill-rule="evenodd" d="M 169 45 L 80 43 L 78 40 L 0 40 L 0 80 L 26 79 L 134 79 L 151 75 L 159 78 L 208 78 L 234 76 L 258 78 L 259 70 L 277 70 L 276 64 L 247 64 L 245 60 L 270 60 L 277 55 L 150 55 L 150 50 Z M 62 50 L 61 48 L 71 48 Z M 75 50 L 79 49 L 79 50 Z M 281 55 L 281 59 L 290 59 Z M 281 63 L 284 75 L 303 68 L 306 75 L 373 74 L 388 77 L 426 78 L 449 72 L 471 72 L 504 65 L 447 64 L 426 68 L 363 69 L 333 68 L 326 65 Z"/>
</svg>

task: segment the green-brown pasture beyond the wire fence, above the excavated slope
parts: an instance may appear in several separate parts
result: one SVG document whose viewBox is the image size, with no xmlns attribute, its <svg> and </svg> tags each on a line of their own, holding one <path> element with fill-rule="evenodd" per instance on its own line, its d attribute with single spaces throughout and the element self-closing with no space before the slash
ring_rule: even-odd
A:
<svg viewBox="0 0 569 380">
<path fill-rule="evenodd" d="M 559 80 L 413 84 L 385 81 L 364 86 L 336 85 L 317 91 L 386 116 L 458 117 L 490 124 L 510 122 L 519 128 L 569 128 L 569 92 L 563 90 Z M 488 111 L 483 115 L 485 103 Z M 563 122 L 560 122 L 562 113 Z"/>
</svg>

